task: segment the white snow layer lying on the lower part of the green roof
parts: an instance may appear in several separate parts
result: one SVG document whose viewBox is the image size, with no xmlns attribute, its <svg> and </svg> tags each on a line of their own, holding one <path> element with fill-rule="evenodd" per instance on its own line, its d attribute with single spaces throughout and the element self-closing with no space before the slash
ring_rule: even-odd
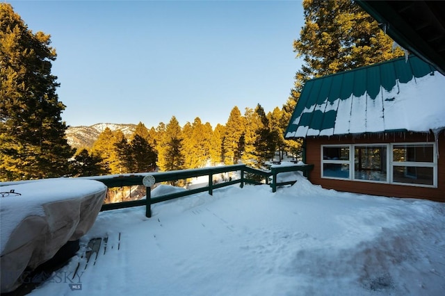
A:
<svg viewBox="0 0 445 296">
<path fill-rule="evenodd" d="M 368 92 L 355 96 L 351 94 L 347 99 L 335 99 L 327 104 L 323 103 L 305 107 L 304 113 L 312 113 L 327 106 L 337 112 L 334 129 L 318 131 L 314 126 L 302 126 L 300 117 L 292 122 L 297 125 L 295 132 L 286 133 L 286 138 L 300 138 L 311 135 L 342 135 L 348 133 L 375 133 L 382 131 L 403 130 L 427 132 L 445 129 L 445 76 L 435 71 L 423 77 L 407 82 L 398 79 L 391 90 L 380 85 L 376 97 Z M 315 126 L 316 128 L 318 126 Z"/>
</svg>

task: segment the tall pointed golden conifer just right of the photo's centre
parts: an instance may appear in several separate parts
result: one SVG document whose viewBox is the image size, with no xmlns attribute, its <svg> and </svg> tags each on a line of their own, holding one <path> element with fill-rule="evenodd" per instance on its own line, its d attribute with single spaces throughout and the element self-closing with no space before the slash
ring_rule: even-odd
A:
<svg viewBox="0 0 445 296">
<path fill-rule="evenodd" d="M 233 165 L 238 163 L 243 151 L 244 142 L 244 119 L 237 106 L 232 108 L 229 119 L 225 124 L 224 134 L 224 163 Z"/>
</svg>

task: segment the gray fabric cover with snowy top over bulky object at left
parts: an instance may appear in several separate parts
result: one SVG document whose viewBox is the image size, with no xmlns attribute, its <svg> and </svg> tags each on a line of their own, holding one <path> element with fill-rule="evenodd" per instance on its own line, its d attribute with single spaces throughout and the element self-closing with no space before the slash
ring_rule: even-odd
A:
<svg viewBox="0 0 445 296">
<path fill-rule="evenodd" d="M 70 179 L 70 181 L 76 180 Z M 6 241 L 1 242 L 1 293 L 15 290 L 21 284 L 21 275 L 25 268 L 31 270 L 37 268 L 38 265 L 52 258 L 66 242 L 78 240 L 92 227 L 104 202 L 107 188 L 103 183 L 98 186 L 97 183 L 99 182 L 97 181 L 79 181 L 74 184 L 74 186 L 83 186 L 83 190 L 77 190 L 79 191 L 78 197 L 72 197 L 72 195 L 76 195 L 76 190 L 74 190 L 74 192 L 70 192 L 68 199 L 64 199 L 64 193 L 66 196 L 66 191 L 70 190 L 72 184 L 66 187 L 64 183 L 58 184 L 60 182 L 56 182 L 55 186 L 60 190 L 60 200 L 43 198 L 44 202 L 40 204 L 43 215 L 31 211 L 30 215 L 26 215 L 20 220 L 17 226 L 9 227 L 12 231 L 10 231 Z M 43 187 L 42 184 L 38 183 L 15 186 L 15 192 L 20 192 L 22 186 L 27 186 L 27 190 L 30 186 L 35 185 L 38 190 L 43 190 L 42 194 L 44 194 L 44 188 L 53 185 L 54 181 Z M 10 187 L 0 187 L 0 191 L 3 192 L 4 189 Z M 90 192 L 85 193 L 88 188 Z M 26 190 L 24 191 L 26 192 Z M 35 195 L 38 196 L 39 192 L 35 192 Z M 9 230 L 8 214 L 11 217 L 14 215 L 13 208 L 6 202 L 6 198 L 17 200 L 22 197 L 1 198 L 2 232 L 8 232 Z M 24 202 L 26 202 L 26 199 Z M 19 203 L 16 202 L 13 206 L 19 206 Z M 5 239 L 7 234 L 2 233 L 2 240 Z"/>
</svg>

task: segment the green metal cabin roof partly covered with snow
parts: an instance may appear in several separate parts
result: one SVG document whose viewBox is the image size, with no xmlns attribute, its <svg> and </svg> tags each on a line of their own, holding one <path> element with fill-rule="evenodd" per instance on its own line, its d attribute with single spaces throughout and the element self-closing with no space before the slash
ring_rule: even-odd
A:
<svg viewBox="0 0 445 296">
<path fill-rule="evenodd" d="M 323 76 L 305 83 L 285 137 L 442 129 L 444 97 L 445 77 L 415 56 Z"/>
</svg>

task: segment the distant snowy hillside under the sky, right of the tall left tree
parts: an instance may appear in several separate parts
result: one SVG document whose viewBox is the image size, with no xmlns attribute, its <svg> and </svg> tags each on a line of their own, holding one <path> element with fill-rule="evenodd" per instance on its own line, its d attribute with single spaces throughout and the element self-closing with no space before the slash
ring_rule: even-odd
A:
<svg viewBox="0 0 445 296">
<path fill-rule="evenodd" d="M 70 126 L 65 135 L 67 135 L 68 144 L 71 147 L 92 147 L 95 140 L 104 129 L 111 129 L 111 131 L 121 130 L 127 137 L 136 129 L 136 124 L 110 124 L 99 123 L 92 126 Z"/>
</svg>

